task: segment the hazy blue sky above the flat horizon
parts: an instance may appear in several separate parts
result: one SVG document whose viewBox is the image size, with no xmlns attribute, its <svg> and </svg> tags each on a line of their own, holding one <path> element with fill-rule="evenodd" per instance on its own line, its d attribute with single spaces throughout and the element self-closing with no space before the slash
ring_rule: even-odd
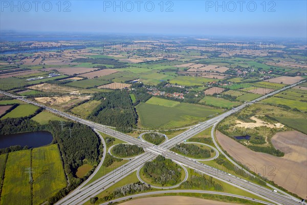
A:
<svg viewBox="0 0 307 205">
<path fill-rule="evenodd" d="M 12 4 L 1 0 L 0 29 L 203 36 L 307 35 L 305 0 L 34 2 Z"/>
</svg>

